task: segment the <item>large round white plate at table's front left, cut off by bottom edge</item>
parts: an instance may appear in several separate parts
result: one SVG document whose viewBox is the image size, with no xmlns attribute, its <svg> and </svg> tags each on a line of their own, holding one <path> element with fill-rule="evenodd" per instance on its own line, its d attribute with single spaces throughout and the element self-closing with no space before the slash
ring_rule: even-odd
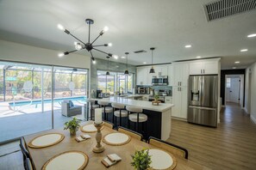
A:
<svg viewBox="0 0 256 170">
<path fill-rule="evenodd" d="M 88 163 L 88 156 L 80 151 L 67 151 L 53 156 L 43 166 L 43 170 L 84 169 Z"/>
</svg>

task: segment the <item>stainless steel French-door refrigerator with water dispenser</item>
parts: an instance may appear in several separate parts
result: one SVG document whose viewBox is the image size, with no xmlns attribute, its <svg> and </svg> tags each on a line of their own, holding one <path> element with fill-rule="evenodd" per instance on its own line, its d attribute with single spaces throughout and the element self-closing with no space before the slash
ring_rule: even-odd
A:
<svg viewBox="0 0 256 170">
<path fill-rule="evenodd" d="M 190 76 L 188 122 L 217 126 L 218 76 Z"/>
</svg>

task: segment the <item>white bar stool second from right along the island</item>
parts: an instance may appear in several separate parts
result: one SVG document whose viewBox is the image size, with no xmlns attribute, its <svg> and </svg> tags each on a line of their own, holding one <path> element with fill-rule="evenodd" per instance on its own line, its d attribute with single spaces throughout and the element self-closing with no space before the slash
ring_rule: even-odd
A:
<svg viewBox="0 0 256 170">
<path fill-rule="evenodd" d="M 119 126 L 122 126 L 122 118 L 128 117 L 128 111 L 124 110 L 125 106 L 120 103 L 112 103 L 111 106 L 113 107 L 113 123 L 114 123 L 114 118 L 115 118 L 115 125 L 117 126 L 116 117 L 118 117 L 119 118 Z"/>
</svg>

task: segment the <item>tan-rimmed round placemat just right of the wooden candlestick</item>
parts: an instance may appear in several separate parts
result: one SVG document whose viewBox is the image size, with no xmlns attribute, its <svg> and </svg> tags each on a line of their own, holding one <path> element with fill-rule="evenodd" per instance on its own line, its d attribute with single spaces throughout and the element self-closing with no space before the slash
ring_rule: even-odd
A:
<svg viewBox="0 0 256 170">
<path fill-rule="evenodd" d="M 111 137 L 112 139 L 116 139 L 116 143 L 113 143 L 111 141 L 108 140 L 108 137 Z M 120 139 L 122 139 L 122 137 L 127 137 L 127 140 L 122 141 Z M 119 141 L 118 141 L 119 140 Z M 109 133 L 107 135 L 105 135 L 103 137 L 103 143 L 112 145 L 112 146 L 120 146 L 120 145 L 124 145 L 126 143 L 129 143 L 131 141 L 131 137 L 125 133 L 120 133 L 120 132 L 116 132 L 116 133 Z"/>
</svg>

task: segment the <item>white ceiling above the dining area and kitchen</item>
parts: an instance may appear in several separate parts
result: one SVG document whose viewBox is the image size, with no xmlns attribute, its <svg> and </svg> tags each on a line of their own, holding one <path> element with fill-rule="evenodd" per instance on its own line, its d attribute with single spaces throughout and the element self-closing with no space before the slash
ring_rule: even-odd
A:
<svg viewBox="0 0 256 170">
<path fill-rule="evenodd" d="M 87 42 L 88 26 L 84 20 L 91 18 L 92 37 L 104 26 L 109 32 L 97 44 L 112 42 L 103 51 L 124 56 L 131 52 L 128 63 L 151 64 L 149 48 L 154 46 L 154 63 L 176 60 L 222 57 L 222 69 L 246 68 L 256 61 L 256 10 L 221 20 L 206 20 L 203 5 L 210 0 L 0 0 L 0 39 L 31 46 L 58 50 L 74 49 L 71 36 L 59 31 L 61 23 L 74 35 Z M 185 45 L 191 48 L 184 48 Z M 247 48 L 248 52 L 240 52 Z M 146 50 L 147 53 L 134 54 Z M 89 55 L 87 51 L 80 52 Z M 96 58 L 105 55 L 94 52 Z M 58 58 L 56 54 L 56 58 Z M 68 58 L 68 56 L 65 56 Z M 119 59 L 125 63 L 125 59 Z"/>
</svg>

